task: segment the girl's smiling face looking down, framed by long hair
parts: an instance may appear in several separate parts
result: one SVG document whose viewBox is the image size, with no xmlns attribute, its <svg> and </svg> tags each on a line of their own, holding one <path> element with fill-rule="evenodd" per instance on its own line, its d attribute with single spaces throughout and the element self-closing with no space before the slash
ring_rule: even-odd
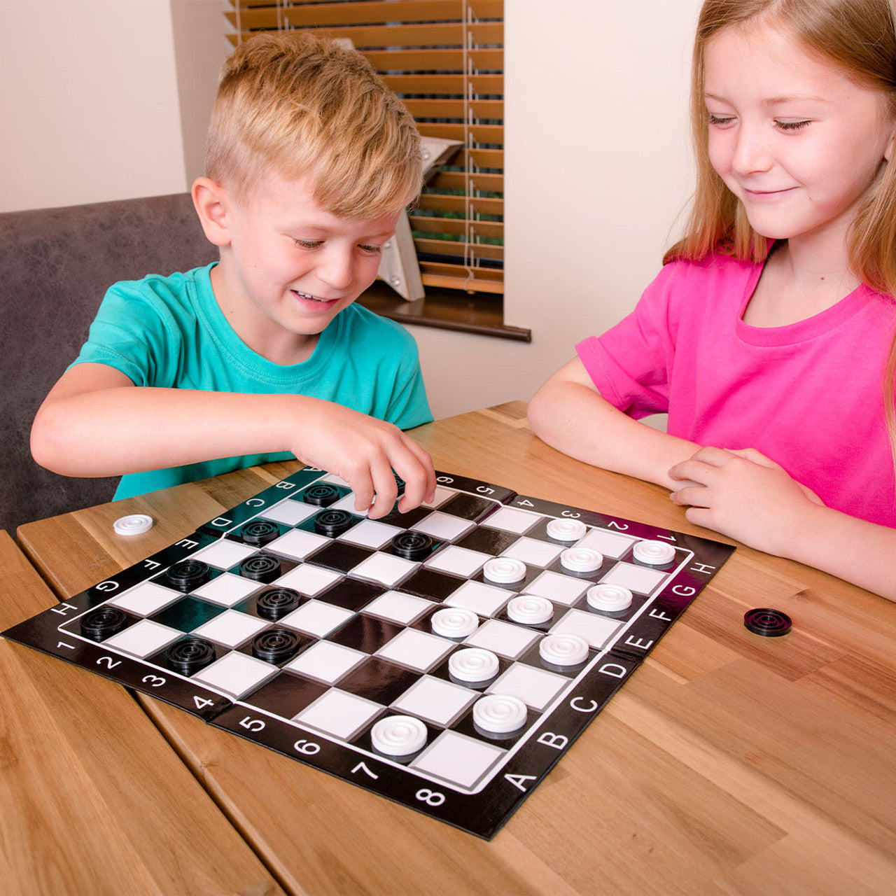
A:
<svg viewBox="0 0 896 896">
<path fill-rule="evenodd" d="M 845 237 L 894 133 L 880 90 L 770 27 L 705 47 L 712 167 L 764 237 Z"/>
</svg>

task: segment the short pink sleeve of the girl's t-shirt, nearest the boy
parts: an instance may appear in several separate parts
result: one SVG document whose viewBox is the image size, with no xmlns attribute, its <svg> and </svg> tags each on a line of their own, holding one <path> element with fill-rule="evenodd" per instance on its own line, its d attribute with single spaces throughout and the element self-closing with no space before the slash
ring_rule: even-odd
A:
<svg viewBox="0 0 896 896">
<path fill-rule="evenodd" d="M 668 411 L 675 358 L 670 303 L 675 268 L 676 263 L 664 267 L 634 311 L 616 326 L 575 347 L 600 395 L 635 419 Z"/>
</svg>

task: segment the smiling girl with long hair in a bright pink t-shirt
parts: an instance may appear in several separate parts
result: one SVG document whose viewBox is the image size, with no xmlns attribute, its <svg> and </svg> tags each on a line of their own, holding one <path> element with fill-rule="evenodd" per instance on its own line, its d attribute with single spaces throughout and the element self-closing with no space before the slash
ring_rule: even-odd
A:
<svg viewBox="0 0 896 896">
<path fill-rule="evenodd" d="M 896 599 L 890 4 L 706 0 L 692 116 L 685 238 L 531 426 L 689 521 Z M 664 411 L 667 433 L 638 422 Z"/>
</svg>

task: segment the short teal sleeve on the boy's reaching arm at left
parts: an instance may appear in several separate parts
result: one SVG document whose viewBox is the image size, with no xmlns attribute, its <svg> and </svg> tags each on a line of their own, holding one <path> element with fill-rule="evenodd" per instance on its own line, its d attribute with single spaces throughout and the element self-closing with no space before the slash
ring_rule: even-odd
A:
<svg viewBox="0 0 896 896">
<path fill-rule="evenodd" d="M 108 289 L 75 364 L 105 364 L 135 386 L 174 383 L 182 337 L 159 297 L 160 280 L 123 281 Z"/>
</svg>

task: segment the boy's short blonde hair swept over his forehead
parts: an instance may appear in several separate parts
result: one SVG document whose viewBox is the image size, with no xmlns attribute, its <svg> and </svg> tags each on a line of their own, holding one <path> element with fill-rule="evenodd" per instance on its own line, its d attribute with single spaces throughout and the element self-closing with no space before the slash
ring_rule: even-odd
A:
<svg viewBox="0 0 896 896">
<path fill-rule="evenodd" d="M 422 186 L 417 125 L 364 56 L 297 31 L 246 40 L 221 69 L 208 177 L 240 196 L 271 172 L 314 178 L 340 218 L 378 218 Z"/>
</svg>

